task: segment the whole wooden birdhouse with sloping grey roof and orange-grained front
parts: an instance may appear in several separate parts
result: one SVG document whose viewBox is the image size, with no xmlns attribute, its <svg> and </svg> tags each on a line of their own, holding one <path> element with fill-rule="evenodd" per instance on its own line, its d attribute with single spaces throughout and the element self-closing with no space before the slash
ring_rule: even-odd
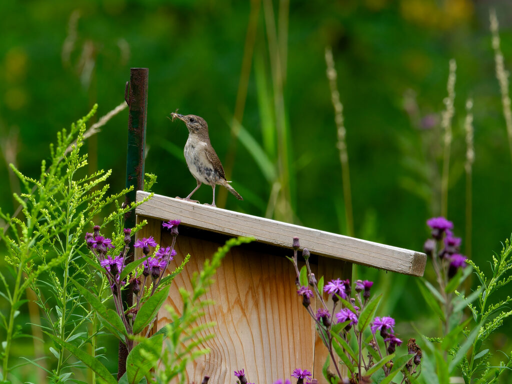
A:
<svg viewBox="0 0 512 384">
<path fill-rule="evenodd" d="M 147 196 L 138 191 L 137 201 Z M 322 367 L 327 349 L 295 293 L 295 271 L 284 257 L 292 254 L 294 236 L 314 255 L 310 259 L 313 273 L 326 281 L 351 279 L 352 263 L 415 276 L 421 276 L 425 268 L 426 256 L 420 252 L 160 195 L 137 207 L 136 213 L 137 221 L 148 222 L 138 237 L 153 236 L 161 246 L 172 243 L 162 222 L 181 220 L 175 260 L 179 264 L 187 253 L 191 259 L 174 280 L 175 287 L 190 289 L 190 276 L 229 237 L 256 239 L 232 248 L 217 272 L 206 295 L 215 304 L 200 320 L 201 324 L 217 324 L 212 329 L 216 337 L 202 346 L 211 352 L 187 368 L 187 382 L 201 382 L 207 375 L 212 383 L 232 384 L 236 381 L 233 371 L 242 368 L 257 383 L 289 377 L 295 368 L 311 370 L 320 383 L 326 382 Z M 171 288 L 166 304 L 180 310 L 177 288 Z M 164 307 L 157 329 L 169 322 Z"/>
</svg>

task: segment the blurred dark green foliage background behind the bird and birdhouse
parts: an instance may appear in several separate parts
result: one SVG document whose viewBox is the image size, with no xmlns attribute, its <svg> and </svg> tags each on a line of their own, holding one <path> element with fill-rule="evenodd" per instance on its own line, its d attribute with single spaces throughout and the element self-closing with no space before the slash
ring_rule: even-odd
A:
<svg viewBox="0 0 512 384">
<path fill-rule="evenodd" d="M 329 46 L 344 105 L 353 235 L 421 250 L 425 220 L 440 214 L 439 122 L 455 58 L 447 216 L 463 237 L 462 252 L 471 241 L 471 257 L 487 268 L 512 231 L 511 154 L 488 21 L 493 7 L 512 68 L 507 0 L 3 0 L 0 206 L 12 212 L 12 192 L 19 191 L 7 163 L 37 177 L 57 130 L 95 102 L 96 118 L 113 109 L 123 101 L 130 68 L 147 67 L 146 172 L 158 175 L 156 193 L 183 197 L 196 186 L 182 155 L 187 130 L 166 118 L 179 108 L 207 120 L 228 179 L 245 198 L 217 188 L 218 206 L 352 234 L 326 78 Z M 468 97 L 475 127 L 471 239 L 464 232 Z M 113 190 L 124 187 L 126 127 L 125 110 L 86 143 L 91 171 L 114 169 Z M 211 188 L 194 197 L 210 202 Z M 432 318 L 413 278 L 354 268 L 354 278 L 361 277 L 389 292 L 382 310 L 400 321 Z M 424 332 L 435 332 L 431 323 Z M 494 343 L 510 348 L 504 334 Z M 19 348 L 30 354 L 29 342 Z"/>
</svg>

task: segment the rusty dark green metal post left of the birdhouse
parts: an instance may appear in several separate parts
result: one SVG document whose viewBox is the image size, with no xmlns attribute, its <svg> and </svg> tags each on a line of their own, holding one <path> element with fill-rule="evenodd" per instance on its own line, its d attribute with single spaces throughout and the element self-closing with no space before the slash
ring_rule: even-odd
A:
<svg viewBox="0 0 512 384">
<path fill-rule="evenodd" d="M 126 151 L 126 188 L 133 186 L 133 190 L 126 194 L 125 204 L 131 204 L 136 199 L 136 191 L 144 189 L 144 157 L 146 147 L 146 120 L 147 120 L 147 68 L 131 68 L 130 81 L 126 82 L 124 100 L 128 104 L 128 145 Z M 124 228 L 135 226 L 135 209 L 124 216 Z M 125 264 L 134 261 L 134 242 L 132 237 L 130 250 L 126 255 Z M 126 310 L 133 305 L 132 286 L 122 291 L 123 307 Z M 128 350 L 119 342 L 119 359 L 117 379 L 126 371 L 126 357 Z"/>
</svg>

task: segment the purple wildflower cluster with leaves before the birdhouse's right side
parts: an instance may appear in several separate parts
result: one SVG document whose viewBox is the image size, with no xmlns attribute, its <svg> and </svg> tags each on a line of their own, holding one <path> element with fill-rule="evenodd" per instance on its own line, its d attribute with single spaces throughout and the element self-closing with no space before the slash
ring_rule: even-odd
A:
<svg viewBox="0 0 512 384">
<path fill-rule="evenodd" d="M 410 339 L 409 353 L 396 357 L 396 348 L 402 340 L 395 334 L 392 317 L 374 317 L 382 295 L 371 297 L 373 282 L 357 280 L 353 290 L 348 279 L 333 279 L 324 284 L 323 276 L 317 281 L 311 272 L 307 249 L 302 251 L 306 263 L 299 269 L 298 238 L 293 239 L 292 248 L 293 257 L 288 259 L 295 268 L 297 294 L 302 297 L 302 304 L 313 318 L 318 335 L 329 351 L 337 376 L 334 382 L 358 384 L 370 380 L 380 382 L 384 378 L 390 382 L 399 372 L 403 381 L 418 377 L 422 351 L 416 340 Z M 325 300 L 324 294 L 330 300 Z M 315 296 L 318 303 L 316 311 L 311 306 L 311 299 Z M 355 343 L 351 342 L 354 338 Z M 355 348 L 352 347 L 354 345 Z M 349 377 L 342 377 L 340 360 L 347 366 Z M 293 376 L 299 377 L 301 372 L 294 371 Z M 329 377 L 326 378 L 331 382 Z"/>
</svg>

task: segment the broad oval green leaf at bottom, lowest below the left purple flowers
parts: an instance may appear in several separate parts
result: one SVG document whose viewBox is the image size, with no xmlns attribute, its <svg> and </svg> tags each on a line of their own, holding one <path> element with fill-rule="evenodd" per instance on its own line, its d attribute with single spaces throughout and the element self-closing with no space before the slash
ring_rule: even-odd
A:
<svg viewBox="0 0 512 384">
<path fill-rule="evenodd" d="M 126 374 L 129 384 L 138 384 L 157 365 L 162 345 L 163 335 L 159 334 L 144 340 L 132 349 L 126 358 Z"/>
</svg>

